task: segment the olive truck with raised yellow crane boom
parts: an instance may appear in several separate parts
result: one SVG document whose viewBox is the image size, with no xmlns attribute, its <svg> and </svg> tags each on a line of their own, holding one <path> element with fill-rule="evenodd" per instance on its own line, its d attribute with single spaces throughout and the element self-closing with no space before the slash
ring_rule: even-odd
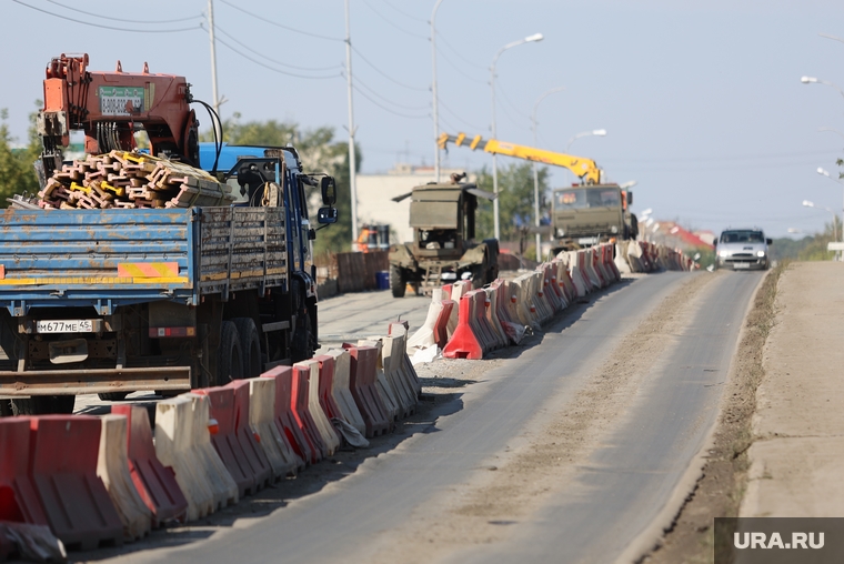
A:
<svg viewBox="0 0 844 564">
<path fill-rule="evenodd" d="M 445 149 L 449 142 L 462 147 L 466 144 L 466 140 L 464 133 L 443 133 L 438 142 Z M 633 203 L 633 193 L 627 190 L 629 187 L 605 182 L 603 171 L 597 168 L 595 161 L 494 139 L 483 140 L 480 135 L 474 137 L 468 147 L 488 153 L 563 167 L 581 179 L 580 184 L 553 190 L 551 224 L 539 228 L 542 234 L 553 241 L 552 254 L 562 250 L 637 236 L 639 222 L 629 209 Z"/>
</svg>

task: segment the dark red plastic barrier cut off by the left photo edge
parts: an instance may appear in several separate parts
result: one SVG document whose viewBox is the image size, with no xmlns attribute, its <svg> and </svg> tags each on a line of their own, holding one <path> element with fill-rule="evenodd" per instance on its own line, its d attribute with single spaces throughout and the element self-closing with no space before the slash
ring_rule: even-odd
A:
<svg viewBox="0 0 844 564">
<path fill-rule="evenodd" d="M 0 521 L 47 525 L 29 477 L 29 417 L 0 419 Z"/>
</svg>

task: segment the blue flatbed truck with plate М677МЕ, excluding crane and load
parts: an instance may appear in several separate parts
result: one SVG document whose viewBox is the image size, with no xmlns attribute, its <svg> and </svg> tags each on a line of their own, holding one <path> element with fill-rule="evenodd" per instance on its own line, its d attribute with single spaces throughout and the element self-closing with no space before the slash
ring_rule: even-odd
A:
<svg viewBox="0 0 844 564">
<path fill-rule="evenodd" d="M 316 222 L 335 222 L 333 178 L 305 174 L 291 147 L 223 147 L 217 167 L 233 205 L 2 210 L 0 399 L 14 413 L 175 394 L 312 355 L 308 201 L 320 190 Z"/>
</svg>

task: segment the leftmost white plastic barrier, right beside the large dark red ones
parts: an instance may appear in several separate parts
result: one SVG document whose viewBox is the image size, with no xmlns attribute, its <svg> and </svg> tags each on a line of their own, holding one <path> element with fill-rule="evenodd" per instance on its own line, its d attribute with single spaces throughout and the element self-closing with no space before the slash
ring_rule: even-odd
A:
<svg viewBox="0 0 844 564">
<path fill-rule="evenodd" d="M 102 415 L 97 475 L 123 523 L 123 540 L 137 541 L 152 528 L 152 512 L 143 503 L 129 471 L 129 442 L 124 415 Z"/>
</svg>

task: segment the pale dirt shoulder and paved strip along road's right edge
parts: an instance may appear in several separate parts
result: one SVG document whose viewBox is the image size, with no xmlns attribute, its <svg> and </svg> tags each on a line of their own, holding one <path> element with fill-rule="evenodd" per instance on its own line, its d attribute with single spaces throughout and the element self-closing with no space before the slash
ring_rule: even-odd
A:
<svg viewBox="0 0 844 564">
<path fill-rule="evenodd" d="M 714 442 L 672 528 L 641 562 L 712 562 L 716 516 L 841 516 L 844 264 L 768 273 L 745 321 Z"/>
</svg>

